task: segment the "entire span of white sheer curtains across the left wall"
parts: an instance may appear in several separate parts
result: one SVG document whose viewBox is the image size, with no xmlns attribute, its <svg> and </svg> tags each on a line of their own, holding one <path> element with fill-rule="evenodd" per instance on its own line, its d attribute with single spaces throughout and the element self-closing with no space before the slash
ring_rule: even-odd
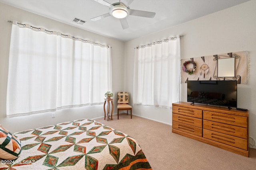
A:
<svg viewBox="0 0 256 170">
<path fill-rule="evenodd" d="M 13 25 L 6 115 L 102 104 L 109 75 L 110 47 Z"/>
</svg>

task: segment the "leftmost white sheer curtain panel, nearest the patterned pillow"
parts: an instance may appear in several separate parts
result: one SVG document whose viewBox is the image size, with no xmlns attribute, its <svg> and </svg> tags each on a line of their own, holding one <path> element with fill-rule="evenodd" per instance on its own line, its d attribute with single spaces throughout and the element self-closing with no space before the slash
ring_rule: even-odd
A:
<svg viewBox="0 0 256 170">
<path fill-rule="evenodd" d="M 56 109 L 56 44 L 54 35 L 12 25 L 7 115 Z"/>
</svg>

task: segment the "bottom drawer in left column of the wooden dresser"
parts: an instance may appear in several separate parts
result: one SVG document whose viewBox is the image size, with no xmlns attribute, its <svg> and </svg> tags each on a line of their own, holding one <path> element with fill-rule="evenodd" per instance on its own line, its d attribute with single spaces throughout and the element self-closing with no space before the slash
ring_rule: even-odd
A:
<svg viewBox="0 0 256 170">
<path fill-rule="evenodd" d="M 202 137 L 202 128 L 172 121 L 172 128 Z"/>
</svg>

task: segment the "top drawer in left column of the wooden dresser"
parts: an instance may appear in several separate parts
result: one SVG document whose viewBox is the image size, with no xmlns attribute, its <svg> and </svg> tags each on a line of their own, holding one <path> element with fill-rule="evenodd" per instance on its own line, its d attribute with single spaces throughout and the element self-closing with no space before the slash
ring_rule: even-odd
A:
<svg viewBox="0 0 256 170">
<path fill-rule="evenodd" d="M 190 109 L 186 107 L 173 106 L 172 113 L 177 113 L 180 115 L 202 119 L 202 110 L 199 110 L 199 109 Z"/>
</svg>

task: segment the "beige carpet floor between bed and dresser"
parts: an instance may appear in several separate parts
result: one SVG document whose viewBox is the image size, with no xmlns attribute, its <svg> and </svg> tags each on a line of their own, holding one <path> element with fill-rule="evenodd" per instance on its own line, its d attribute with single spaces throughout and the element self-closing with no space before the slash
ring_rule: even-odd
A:
<svg viewBox="0 0 256 170">
<path fill-rule="evenodd" d="M 250 157 L 172 133 L 172 126 L 121 114 L 119 120 L 95 119 L 138 141 L 153 170 L 256 170 L 256 149 Z"/>
</svg>

